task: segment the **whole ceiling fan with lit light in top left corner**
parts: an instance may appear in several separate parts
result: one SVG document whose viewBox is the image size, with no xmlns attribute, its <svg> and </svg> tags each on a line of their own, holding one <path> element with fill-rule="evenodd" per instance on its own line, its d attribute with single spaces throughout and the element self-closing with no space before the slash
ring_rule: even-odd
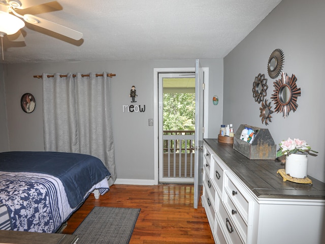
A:
<svg viewBox="0 0 325 244">
<path fill-rule="evenodd" d="M 52 21 L 37 17 L 31 14 L 20 15 L 16 9 L 27 9 L 36 5 L 51 2 L 49 0 L 0 0 L 0 37 L 7 35 L 14 41 L 24 41 L 20 29 L 25 26 L 25 22 L 51 30 L 69 38 L 80 40 L 82 33 L 66 26 L 56 24 Z M 23 21 L 24 20 L 24 21 Z M 16 33 L 19 32 L 19 35 Z M 14 35 L 15 34 L 15 35 Z M 14 38 L 10 38 L 14 35 Z M 17 37 L 18 36 L 18 37 Z M 3 44 L 2 44 L 3 46 Z M 2 47 L 3 50 L 3 47 Z"/>
</svg>

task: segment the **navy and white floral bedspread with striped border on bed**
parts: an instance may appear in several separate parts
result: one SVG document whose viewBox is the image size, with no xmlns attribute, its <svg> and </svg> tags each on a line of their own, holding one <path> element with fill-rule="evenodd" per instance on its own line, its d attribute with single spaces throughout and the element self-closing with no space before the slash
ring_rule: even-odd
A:
<svg viewBox="0 0 325 244">
<path fill-rule="evenodd" d="M 74 211 L 58 178 L 28 172 L 0 171 L 0 202 L 11 230 L 55 232 Z"/>
</svg>

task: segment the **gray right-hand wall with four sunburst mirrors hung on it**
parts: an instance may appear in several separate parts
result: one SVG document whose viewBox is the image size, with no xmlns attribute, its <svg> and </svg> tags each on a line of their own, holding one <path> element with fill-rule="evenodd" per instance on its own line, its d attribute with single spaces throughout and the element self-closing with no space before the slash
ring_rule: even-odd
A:
<svg viewBox="0 0 325 244">
<path fill-rule="evenodd" d="M 318 156 L 309 156 L 308 174 L 325 181 L 325 1 L 283 0 L 229 55 L 224 58 L 223 121 L 234 128 L 248 124 L 268 128 L 278 144 L 281 140 L 306 140 Z M 272 123 L 262 125 L 252 85 L 258 73 L 268 78 L 267 99 L 271 101 L 273 82 L 267 62 L 275 49 L 284 52 L 283 71 L 295 74 L 301 88 L 298 109 L 287 118 L 272 114 Z M 276 78 L 278 79 L 278 78 Z M 272 102 L 272 110 L 274 103 Z"/>
</svg>

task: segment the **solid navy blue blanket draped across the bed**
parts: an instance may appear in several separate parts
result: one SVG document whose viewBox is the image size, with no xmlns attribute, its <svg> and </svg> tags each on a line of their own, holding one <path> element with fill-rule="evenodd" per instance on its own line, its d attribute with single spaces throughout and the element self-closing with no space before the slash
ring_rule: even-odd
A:
<svg viewBox="0 0 325 244">
<path fill-rule="evenodd" d="M 83 202 L 93 185 L 110 176 L 99 158 L 67 152 L 2 152 L 0 171 L 42 173 L 57 177 L 67 192 L 71 208 Z"/>
</svg>

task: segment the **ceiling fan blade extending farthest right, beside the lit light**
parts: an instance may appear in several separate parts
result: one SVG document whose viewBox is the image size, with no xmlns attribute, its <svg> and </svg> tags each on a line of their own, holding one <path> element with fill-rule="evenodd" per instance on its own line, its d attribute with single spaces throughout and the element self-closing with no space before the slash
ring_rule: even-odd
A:
<svg viewBox="0 0 325 244">
<path fill-rule="evenodd" d="M 46 20 L 46 19 L 42 19 L 40 17 L 37 17 L 35 15 L 31 15 L 31 14 L 25 14 L 24 15 L 24 20 L 29 23 L 29 24 L 33 24 L 36 26 L 40 26 L 42 28 L 54 31 L 56 33 L 59 33 L 61 35 L 65 35 L 68 36 L 72 39 L 75 40 L 80 40 L 82 38 L 82 33 L 73 29 L 70 29 L 66 26 L 63 25 L 59 25 L 56 24 L 52 21 Z"/>
</svg>

